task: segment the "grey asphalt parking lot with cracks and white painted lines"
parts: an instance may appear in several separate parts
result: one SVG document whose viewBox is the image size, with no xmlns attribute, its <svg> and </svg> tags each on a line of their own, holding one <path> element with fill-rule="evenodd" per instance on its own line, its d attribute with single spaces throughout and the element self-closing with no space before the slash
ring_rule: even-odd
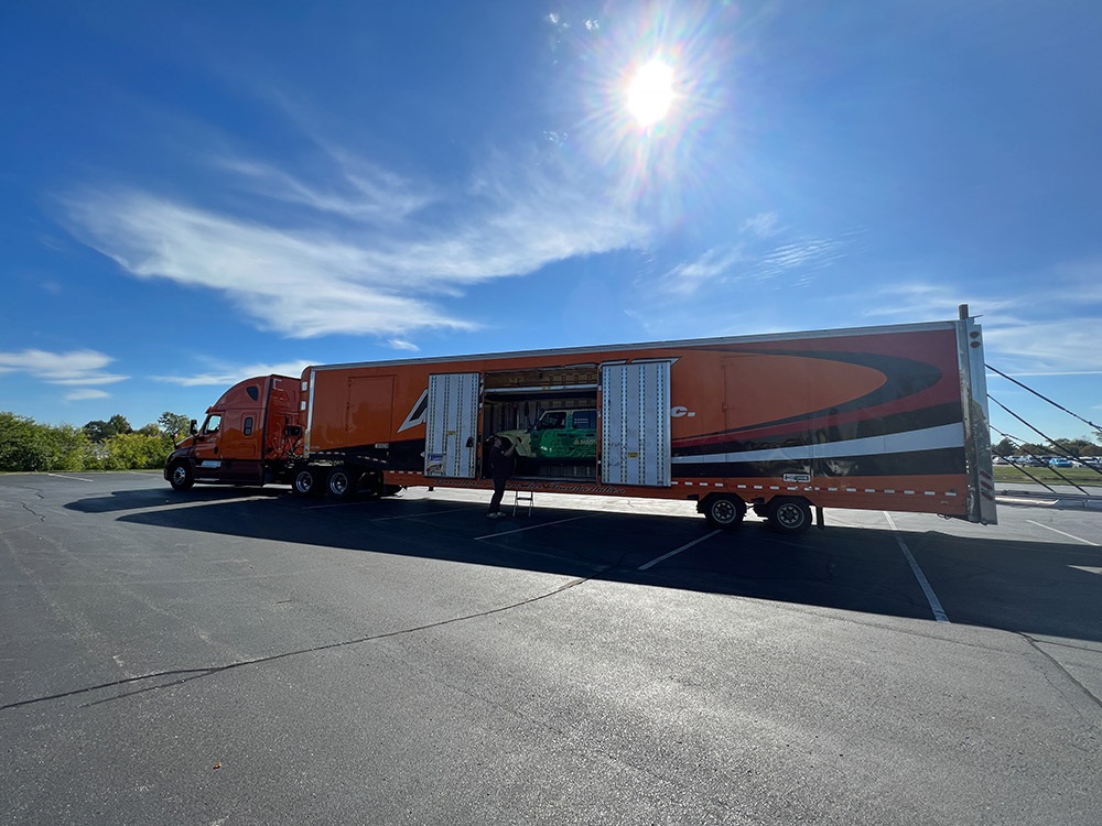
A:
<svg viewBox="0 0 1102 826">
<path fill-rule="evenodd" d="M 8 822 L 1096 824 L 1102 511 L 1028 494 L 785 537 L 0 476 Z"/>
</svg>

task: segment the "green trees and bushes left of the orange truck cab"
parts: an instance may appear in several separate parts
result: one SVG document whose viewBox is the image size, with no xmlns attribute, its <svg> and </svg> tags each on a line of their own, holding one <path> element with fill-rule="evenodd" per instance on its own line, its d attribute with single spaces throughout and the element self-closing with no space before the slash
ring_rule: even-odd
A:
<svg viewBox="0 0 1102 826">
<path fill-rule="evenodd" d="M 137 431 L 122 415 L 76 427 L 40 424 L 2 411 L 0 471 L 161 468 L 190 423 L 186 416 L 165 411 L 155 423 Z"/>
</svg>

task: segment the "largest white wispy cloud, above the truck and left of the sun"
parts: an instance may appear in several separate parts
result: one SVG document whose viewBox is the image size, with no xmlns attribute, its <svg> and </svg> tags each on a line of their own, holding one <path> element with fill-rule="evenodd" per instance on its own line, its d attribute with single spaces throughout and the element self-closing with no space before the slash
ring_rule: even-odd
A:
<svg viewBox="0 0 1102 826">
<path fill-rule="evenodd" d="M 63 198 L 73 231 L 132 275 L 223 293 L 264 329 L 399 339 L 475 328 L 442 306 L 473 284 L 646 235 L 592 182 L 550 163 L 495 154 L 447 194 L 347 155 L 333 162 L 328 187 L 270 164 L 219 163 L 262 194 L 250 217 L 101 185 Z M 277 220 L 272 199 L 294 209 Z"/>
</svg>

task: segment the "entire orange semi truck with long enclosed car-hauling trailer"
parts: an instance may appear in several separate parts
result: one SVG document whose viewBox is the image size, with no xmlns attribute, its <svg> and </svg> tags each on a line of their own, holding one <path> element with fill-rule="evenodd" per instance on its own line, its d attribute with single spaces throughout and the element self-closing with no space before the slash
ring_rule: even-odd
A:
<svg viewBox="0 0 1102 826">
<path fill-rule="evenodd" d="M 197 424 L 197 423 L 196 423 Z M 983 336 L 953 320 L 306 367 L 235 384 L 169 456 L 195 482 L 299 496 L 511 487 L 682 499 L 780 532 L 824 508 L 996 522 Z"/>
</svg>

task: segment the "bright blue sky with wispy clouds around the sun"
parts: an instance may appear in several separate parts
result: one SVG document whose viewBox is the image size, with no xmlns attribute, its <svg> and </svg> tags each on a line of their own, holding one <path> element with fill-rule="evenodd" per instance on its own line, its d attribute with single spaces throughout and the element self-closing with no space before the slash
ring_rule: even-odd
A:
<svg viewBox="0 0 1102 826">
<path fill-rule="evenodd" d="M 966 303 L 1100 422 L 1100 42 L 1061 0 L 6 2 L 0 410 L 137 427 L 307 363 Z"/>
</svg>

